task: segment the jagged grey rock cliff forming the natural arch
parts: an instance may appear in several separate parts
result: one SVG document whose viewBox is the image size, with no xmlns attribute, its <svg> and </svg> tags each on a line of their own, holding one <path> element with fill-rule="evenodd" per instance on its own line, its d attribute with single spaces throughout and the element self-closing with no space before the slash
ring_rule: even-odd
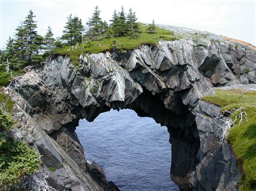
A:
<svg viewBox="0 0 256 191">
<path fill-rule="evenodd" d="M 18 137 L 43 155 L 45 168 L 56 168 L 53 187 L 110 189 L 102 169 L 86 161 L 75 128 L 79 119 L 93 121 L 111 108 L 133 109 L 167 126 L 171 177 L 181 189 L 239 185 L 231 146 L 219 142 L 220 108 L 200 98 L 214 87 L 255 83 L 255 49 L 211 33 L 161 27 L 184 38 L 126 53 L 80 55 L 78 67 L 57 56 L 6 90 L 17 103 Z"/>
</svg>

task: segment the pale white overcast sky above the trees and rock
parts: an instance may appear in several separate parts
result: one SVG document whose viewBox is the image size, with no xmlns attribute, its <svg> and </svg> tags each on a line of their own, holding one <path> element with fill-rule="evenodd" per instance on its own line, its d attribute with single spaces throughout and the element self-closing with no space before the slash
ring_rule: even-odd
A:
<svg viewBox="0 0 256 191">
<path fill-rule="evenodd" d="M 66 17 L 71 13 L 82 19 L 85 25 L 96 5 L 101 17 L 107 22 L 114 10 L 124 6 L 125 11 L 132 8 L 142 23 L 184 26 L 191 29 L 208 31 L 227 37 L 247 41 L 256 45 L 255 10 L 253 1 L 168 1 L 168 0 L 0 0 L 1 28 L 0 47 L 9 36 L 13 36 L 21 20 L 32 10 L 37 21 L 38 33 L 44 35 L 48 26 L 52 27 L 55 37 L 62 35 Z"/>
</svg>

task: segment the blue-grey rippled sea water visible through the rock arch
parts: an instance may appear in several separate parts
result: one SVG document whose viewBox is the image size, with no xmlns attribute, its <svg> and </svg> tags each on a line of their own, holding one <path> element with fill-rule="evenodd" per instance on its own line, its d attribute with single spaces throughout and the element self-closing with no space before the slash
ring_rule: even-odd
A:
<svg viewBox="0 0 256 191">
<path fill-rule="evenodd" d="M 111 110 L 79 121 L 77 136 L 120 190 L 179 190 L 170 179 L 171 144 L 165 126 L 133 110 Z"/>
</svg>

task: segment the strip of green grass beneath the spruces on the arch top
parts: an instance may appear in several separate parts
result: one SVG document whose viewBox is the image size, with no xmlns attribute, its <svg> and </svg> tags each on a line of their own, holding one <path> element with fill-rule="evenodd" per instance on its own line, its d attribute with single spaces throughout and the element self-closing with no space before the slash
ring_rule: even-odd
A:
<svg viewBox="0 0 256 191">
<path fill-rule="evenodd" d="M 142 45 L 156 45 L 159 40 L 178 40 L 181 37 L 174 35 L 172 31 L 160 29 L 157 27 L 156 34 L 147 31 L 148 26 L 139 24 L 140 34 L 136 39 L 129 37 L 105 38 L 97 41 L 86 41 L 80 44 L 77 48 L 72 46 L 65 46 L 63 48 L 55 49 L 57 55 L 69 55 L 71 60 L 78 60 L 79 55 L 83 53 L 100 53 L 105 51 L 112 51 L 112 41 L 116 40 L 118 44 L 122 45 L 123 50 L 130 50 Z"/>
</svg>

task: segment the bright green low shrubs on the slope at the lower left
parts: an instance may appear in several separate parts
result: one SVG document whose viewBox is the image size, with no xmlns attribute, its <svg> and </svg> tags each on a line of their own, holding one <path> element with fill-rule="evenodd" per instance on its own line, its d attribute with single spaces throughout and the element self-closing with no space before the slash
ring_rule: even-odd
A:
<svg viewBox="0 0 256 191">
<path fill-rule="evenodd" d="M 12 110 L 13 102 L 0 94 Z M 41 165 L 40 155 L 20 140 L 15 140 L 11 130 L 15 122 L 8 112 L 0 108 L 0 189 L 15 189 L 24 176 L 32 175 Z"/>
</svg>

